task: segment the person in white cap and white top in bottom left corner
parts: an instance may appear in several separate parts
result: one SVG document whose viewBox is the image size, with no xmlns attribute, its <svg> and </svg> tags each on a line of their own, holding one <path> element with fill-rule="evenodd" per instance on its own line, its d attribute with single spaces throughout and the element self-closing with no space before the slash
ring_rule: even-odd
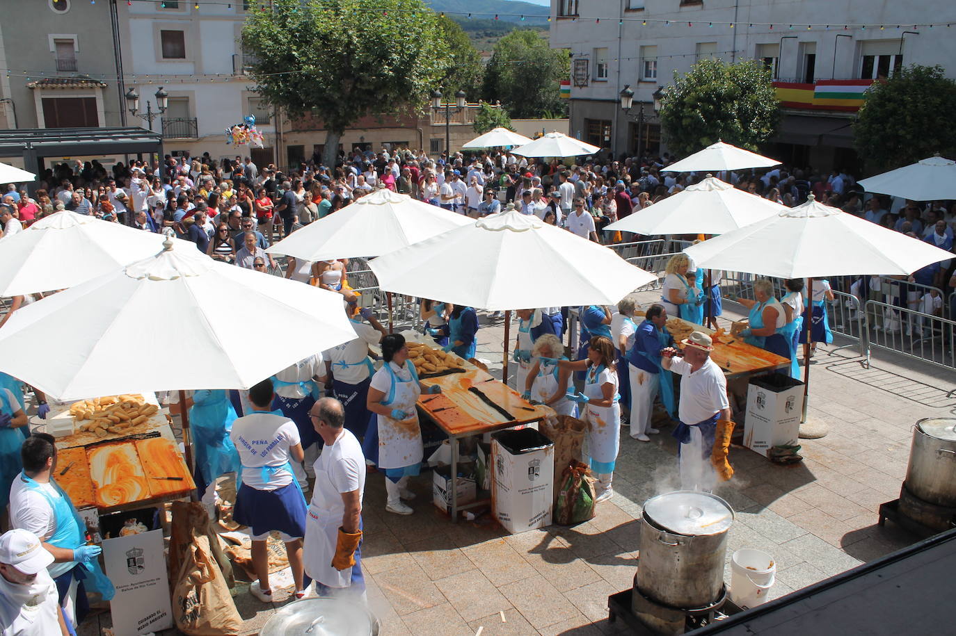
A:
<svg viewBox="0 0 956 636">
<path fill-rule="evenodd" d="M 13 529 L 0 537 L 0 634 L 51 636 L 70 631 L 47 572 L 52 554 L 32 532 Z"/>
</svg>

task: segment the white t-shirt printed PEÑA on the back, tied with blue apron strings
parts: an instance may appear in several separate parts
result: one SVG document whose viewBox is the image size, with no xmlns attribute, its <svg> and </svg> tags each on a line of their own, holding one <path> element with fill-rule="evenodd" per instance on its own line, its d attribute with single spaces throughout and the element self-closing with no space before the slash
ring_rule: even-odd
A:
<svg viewBox="0 0 956 636">
<path fill-rule="evenodd" d="M 256 412 L 232 422 L 229 439 L 239 451 L 242 482 L 256 490 L 275 490 L 293 482 L 293 474 L 279 469 L 263 480 L 263 466 L 279 467 L 290 460 L 291 449 L 302 443 L 295 423 L 283 415 Z"/>
</svg>

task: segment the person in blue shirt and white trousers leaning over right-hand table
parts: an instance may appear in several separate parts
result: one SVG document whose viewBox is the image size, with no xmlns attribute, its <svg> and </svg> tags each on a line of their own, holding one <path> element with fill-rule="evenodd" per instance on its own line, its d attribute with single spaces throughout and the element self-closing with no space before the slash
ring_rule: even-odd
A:
<svg viewBox="0 0 956 636">
<path fill-rule="evenodd" d="M 667 311 L 656 303 L 647 307 L 644 320 L 634 334 L 634 346 L 627 352 L 627 371 L 631 383 L 631 436 L 650 441 L 647 435 L 660 433 L 651 426 L 654 399 L 661 395 L 664 409 L 673 417 L 674 380 L 661 366 L 661 351 L 672 347 L 674 339 L 664 326 Z"/>
</svg>

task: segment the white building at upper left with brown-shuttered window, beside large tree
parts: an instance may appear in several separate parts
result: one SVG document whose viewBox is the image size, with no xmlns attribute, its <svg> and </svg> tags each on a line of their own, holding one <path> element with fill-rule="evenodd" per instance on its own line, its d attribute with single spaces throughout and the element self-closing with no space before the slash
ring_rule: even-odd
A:
<svg viewBox="0 0 956 636">
<path fill-rule="evenodd" d="M 253 92 L 244 74 L 239 35 L 250 0 L 199 3 L 185 0 L 120 2 L 120 38 L 127 89 L 140 95 L 140 112 L 159 87 L 169 105 L 152 129 L 163 133 L 167 154 L 208 152 L 213 159 L 250 156 L 257 165 L 275 161 L 272 109 Z M 227 144 L 226 129 L 254 115 L 264 149 Z M 140 123 L 139 117 L 127 117 Z M 149 127 L 145 121 L 143 127 Z"/>
</svg>

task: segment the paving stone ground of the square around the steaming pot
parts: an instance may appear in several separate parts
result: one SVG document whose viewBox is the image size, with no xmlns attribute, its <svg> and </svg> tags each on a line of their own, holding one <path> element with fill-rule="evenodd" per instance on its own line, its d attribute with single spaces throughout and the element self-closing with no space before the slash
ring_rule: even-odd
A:
<svg viewBox="0 0 956 636">
<path fill-rule="evenodd" d="M 478 335 L 477 357 L 499 375 L 502 322 L 482 315 Z M 730 555 L 742 547 L 773 556 L 776 598 L 916 541 L 892 522 L 877 525 L 877 510 L 899 496 L 911 426 L 921 417 L 953 415 L 956 398 L 921 402 L 886 391 L 884 378 L 948 391 L 956 387 L 956 375 L 880 357 L 873 361 L 874 377 L 880 378 L 875 382 L 867 373 L 845 372 L 859 369 L 857 360 L 852 350 L 829 355 L 821 346 L 816 354 L 810 413 L 830 433 L 801 440 L 801 464 L 779 467 L 749 450 L 731 450 L 736 474 L 716 490 L 736 512 L 728 535 L 728 582 Z M 643 443 L 624 429 L 614 498 L 598 504 L 595 519 L 570 528 L 512 536 L 490 523 L 453 524 L 431 503 L 428 474 L 411 482 L 418 495 L 415 514 L 393 515 L 384 510 L 383 477 L 371 475 L 362 553 L 380 633 L 452 636 L 479 627 L 486 636 L 618 633 L 607 622 L 607 597 L 632 585 L 641 504 L 678 481 L 670 431 L 664 428 Z M 246 620 L 243 633 L 254 634 L 282 604 L 261 604 L 246 588 L 238 584 L 233 594 Z M 106 626 L 108 614 L 100 620 Z M 87 625 L 80 633 L 98 630 Z"/>
</svg>

